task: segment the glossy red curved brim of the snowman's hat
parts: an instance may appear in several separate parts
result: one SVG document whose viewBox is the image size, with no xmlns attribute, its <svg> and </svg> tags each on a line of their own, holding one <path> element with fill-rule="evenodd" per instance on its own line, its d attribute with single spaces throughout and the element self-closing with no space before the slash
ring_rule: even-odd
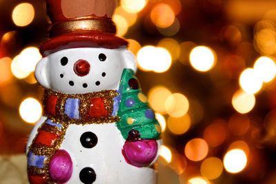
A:
<svg viewBox="0 0 276 184">
<path fill-rule="evenodd" d="M 43 43 L 40 52 L 43 57 L 68 48 L 109 48 L 127 46 L 128 41 L 115 34 L 98 31 L 68 32 Z"/>
</svg>

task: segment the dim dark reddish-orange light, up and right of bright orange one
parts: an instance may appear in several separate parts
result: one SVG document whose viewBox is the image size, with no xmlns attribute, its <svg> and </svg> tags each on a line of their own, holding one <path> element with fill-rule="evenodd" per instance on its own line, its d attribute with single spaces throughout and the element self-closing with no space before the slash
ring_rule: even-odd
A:
<svg viewBox="0 0 276 184">
<path fill-rule="evenodd" d="M 204 130 L 204 140 L 211 147 L 221 145 L 226 139 L 226 122 L 222 119 L 216 120 L 214 123 L 208 125 Z"/>
</svg>

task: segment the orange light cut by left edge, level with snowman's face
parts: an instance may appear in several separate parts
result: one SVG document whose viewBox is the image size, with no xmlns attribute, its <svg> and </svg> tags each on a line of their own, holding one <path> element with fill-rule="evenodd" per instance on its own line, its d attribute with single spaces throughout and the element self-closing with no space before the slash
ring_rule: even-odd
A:
<svg viewBox="0 0 276 184">
<path fill-rule="evenodd" d="M 10 63 L 12 63 L 12 60 L 9 57 L 0 59 L 0 83 L 6 83 L 11 79 Z"/>
</svg>

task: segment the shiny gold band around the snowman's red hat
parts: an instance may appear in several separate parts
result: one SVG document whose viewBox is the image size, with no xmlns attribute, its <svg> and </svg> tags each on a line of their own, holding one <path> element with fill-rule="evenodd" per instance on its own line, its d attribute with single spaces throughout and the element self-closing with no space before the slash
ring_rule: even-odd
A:
<svg viewBox="0 0 276 184">
<path fill-rule="evenodd" d="M 79 32 L 83 30 L 115 34 L 116 26 L 112 19 L 108 17 L 78 17 L 52 24 L 49 36 L 52 38 L 68 32 Z"/>
</svg>

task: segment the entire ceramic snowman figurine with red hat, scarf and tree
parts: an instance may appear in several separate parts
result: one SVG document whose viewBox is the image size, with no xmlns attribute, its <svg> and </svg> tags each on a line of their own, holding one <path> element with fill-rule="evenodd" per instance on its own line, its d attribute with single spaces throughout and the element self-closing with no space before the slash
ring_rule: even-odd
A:
<svg viewBox="0 0 276 184">
<path fill-rule="evenodd" d="M 50 39 L 35 76 L 43 116 L 27 145 L 33 183 L 157 183 L 160 126 L 116 37 L 115 0 L 47 0 Z"/>
</svg>

